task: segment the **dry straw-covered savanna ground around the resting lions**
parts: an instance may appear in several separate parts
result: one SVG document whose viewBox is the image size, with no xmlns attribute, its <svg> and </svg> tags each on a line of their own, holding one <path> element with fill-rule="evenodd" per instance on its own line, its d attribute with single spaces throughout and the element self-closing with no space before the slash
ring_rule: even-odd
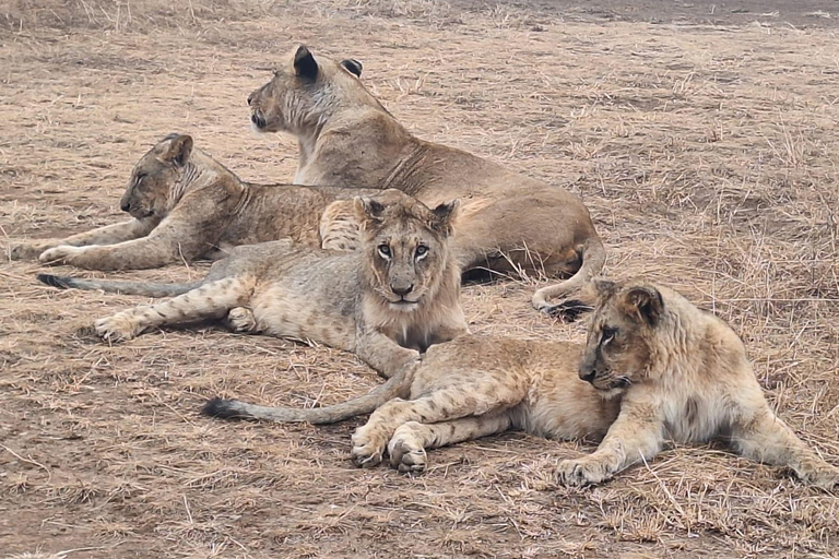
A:
<svg viewBox="0 0 839 559">
<path fill-rule="evenodd" d="M 291 179 L 296 144 L 250 133 L 245 99 L 303 41 L 361 59 L 417 134 L 581 195 L 610 274 L 729 320 L 772 405 L 839 464 L 839 4 L 742 3 L 7 2 L 2 243 L 121 219 L 131 166 L 172 131 L 245 178 Z M 47 288 L 40 270 L 0 265 L 4 555 L 839 557 L 837 496 L 717 447 L 569 489 L 553 465 L 591 447 L 508 433 L 406 477 L 353 467 L 363 419 L 206 419 L 216 394 L 311 406 L 379 380 L 211 326 L 109 347 L 80 329 L 141 300 Z M 581 341 L 530 309 L 534 285 L 465 287 L 473 331 Z"/>
</svg>

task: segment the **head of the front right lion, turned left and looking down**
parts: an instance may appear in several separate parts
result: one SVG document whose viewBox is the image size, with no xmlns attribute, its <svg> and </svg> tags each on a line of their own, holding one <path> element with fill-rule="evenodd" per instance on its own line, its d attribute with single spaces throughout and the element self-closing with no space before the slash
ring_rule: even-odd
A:
<svg viewBox="0 0 839 559">
<path fill-rule="evenodd" d="M 648 378 L 651 342 L 664 301 L 649 286 L 621 287 L 606 280 L 594 280 L 593 286 L 600 300 L 579 376 L 598 390 L 619 393 Z"/>
</svg>

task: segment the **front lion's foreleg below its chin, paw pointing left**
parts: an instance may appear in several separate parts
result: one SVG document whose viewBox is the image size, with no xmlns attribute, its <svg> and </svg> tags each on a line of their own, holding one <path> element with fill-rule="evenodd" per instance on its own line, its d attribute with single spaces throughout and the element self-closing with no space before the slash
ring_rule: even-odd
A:
<svg viewBox="0 0 839 559">
<path fill-rule="evenodd" d="M 556 479 L 566 485 L 593 485 L 611 479 L 625 467 L 658 454 L 663 429 L 653 409 L 625 404 L 598 450 L 579 459 L 560 461 Z"/>
</svg>

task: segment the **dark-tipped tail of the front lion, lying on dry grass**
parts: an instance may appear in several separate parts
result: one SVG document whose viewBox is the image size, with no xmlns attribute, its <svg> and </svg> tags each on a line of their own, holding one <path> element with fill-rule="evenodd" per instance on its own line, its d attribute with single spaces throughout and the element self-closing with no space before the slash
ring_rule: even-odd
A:
<svg viewBox="0 0 839 559">
<path fill-rule="evenodd" d="M 214 397 L 204 404 L 201 413 L 224 419 L 261 419 L 274 423 L 309 423 L 312 425 L 334 424 L 374 412 L 389 400 L 406 396 L 420 365 L 413 361 L 402 367 L 385 384 L 376 386 L 363 396 L 340 404 L 310 409 L 294 407 L 269 407 L 248 404 L 238 400 Z"/>
</svg>

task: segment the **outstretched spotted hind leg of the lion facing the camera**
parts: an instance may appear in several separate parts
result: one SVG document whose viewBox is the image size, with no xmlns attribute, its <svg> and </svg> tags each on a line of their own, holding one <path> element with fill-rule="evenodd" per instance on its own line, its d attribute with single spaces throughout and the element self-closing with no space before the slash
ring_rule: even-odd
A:
<svg viewBox="0 0 839 559">
<path fill-rule="evenodd" d="M 96 333 L 107 342 L 131 340 L 155 326 L 218 319 L 243 305 L 249 289 L 240 278 L 228 277 L 157 305 L 135 307 L 95 322 Z"/>
</svg>

